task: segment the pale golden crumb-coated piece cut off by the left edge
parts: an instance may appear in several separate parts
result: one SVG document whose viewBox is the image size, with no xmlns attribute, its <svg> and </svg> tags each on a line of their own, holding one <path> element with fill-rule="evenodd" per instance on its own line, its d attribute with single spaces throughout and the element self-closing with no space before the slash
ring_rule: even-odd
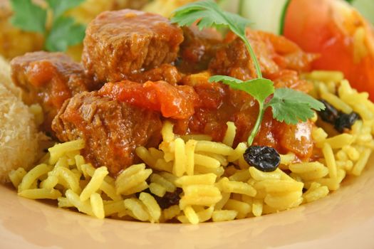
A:
<svg viewBox="0 0 374 249">
<path fill-rule="evenodd" d="M 19 95 L 9 78 L 9 65 L 0 58 L 0 183 L 8 180 L 11 169 L 31 166 L 38 154 L 40 134 Z"/>
</svg>

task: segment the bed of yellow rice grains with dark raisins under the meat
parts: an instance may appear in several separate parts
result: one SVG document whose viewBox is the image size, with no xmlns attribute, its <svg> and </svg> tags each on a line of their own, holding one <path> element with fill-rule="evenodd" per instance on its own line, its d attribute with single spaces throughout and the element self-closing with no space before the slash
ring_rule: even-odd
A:
<svg viewBox="0 0 374 249">
<path fill-rule="evenodd" d="M 117 178 L 105 166 L 95 169 L 83 159 L 81 139 L 56 144 L 31 171 L 19 168 L 9 177 L 19 196 L 56 199 L 58 207 L 97 218 L 152 223 L 231 221 L 316 201 L 339 189 L 347 175 L 363 171 L 374 148 L 374 105 L 339 72 L 315 71 L 304 78 L 313 81 L 315 97 L 341 113 L 360 116 L 339 134 L 316 115 L 311 120 L 316 124 L 314 160 L 301 162 L 293 153 L 281 154 L 278 169 L 259 171 L 244 161 L 246 143 L 232 147 L 232 122 L 227 123 L 223 142 L 212 142 L 203 134 L 179 136 L 166 121 L 160 146 L 137 147 L 142 162 Z"/>
</svg>

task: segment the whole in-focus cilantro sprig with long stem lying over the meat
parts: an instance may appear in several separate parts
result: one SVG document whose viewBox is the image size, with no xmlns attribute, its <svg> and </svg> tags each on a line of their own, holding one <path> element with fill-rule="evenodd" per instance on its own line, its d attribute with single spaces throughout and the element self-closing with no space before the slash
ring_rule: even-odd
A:
<svg viewBox="0 0 374 249">
<path fill-rule="evenodd" d="M 241 41 L 244 42 L 251 59 L 254 61 L 257 77 L 253 80 L 242 81 L 237 78 L 232 78 L 224 75 L 215 75 L 209 78 L 209 82 L 222 82 L 229 85 L 235 90 L 242 90 L 259 102 L 259 116 L 257 117 L 254 128 L 248 137 L 248 145 L 254 141 L 259 128 L 261 126 L 264 112 L 267 107 L 271 107 L 273 117 L 280 122 L 286 124 L 297 124 L 299 120 L 306 121 L 313 117 L 314 110 L 324 110 L 325 106 L 313 97 L 306 95 L 303 92 L 292 90 L 289 88 L 274 88 L 274 83 L 271 80 L 262 78 L 261 68 L 259 62 L 254 54 L 251 44 L 246 38 L 246 26 L 250 22 L 227 11 L 223 11 L 212 0 L 198 1 L 192 4 L 187 4 L 175 11 L 174 17 L 171 19 L 172 23 L 177 23 L 180 26 L 190 26 L 197 22 L 197 26 L 202 28 L 227 26 L 234 32 Z M 273 97 L 271 97 L 273 95 Z M 270 99 L 267 101 L 268 99 Z"/>
</svg>

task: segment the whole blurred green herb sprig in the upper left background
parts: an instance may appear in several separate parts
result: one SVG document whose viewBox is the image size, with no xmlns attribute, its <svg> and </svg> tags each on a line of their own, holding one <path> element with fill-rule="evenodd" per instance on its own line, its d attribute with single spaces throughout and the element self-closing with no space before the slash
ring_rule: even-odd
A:
<svg viewBox="0 0 374 249">
<path fill-rule="evenodd" d="M 47 8 L 34 4 L 31 0 L 11 0 L 14 16 L 11 23 L 23 31 L 42 33 L 46 37 L 44 47 L 47 51 L 66 51 L 83 41 L 85 26 L 68 16 L 69 9 L 84 0 L 46 0 Z M 53 16 L 51 28 L 47 30 L 47 12 Z"/>
</svg>

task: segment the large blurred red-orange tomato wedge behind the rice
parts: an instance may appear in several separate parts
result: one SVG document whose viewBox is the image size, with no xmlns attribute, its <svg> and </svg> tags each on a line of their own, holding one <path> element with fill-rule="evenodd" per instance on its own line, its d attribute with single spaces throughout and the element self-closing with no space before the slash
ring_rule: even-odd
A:
<svg viewBox="0 0 374 249">
<path fill-rule="evenodd" d="M 374 100 L 374 31 L 353 7 L 337 0 L 292 0 L 284 36 L 321 55 L 313 69 L 342 71 Z"/>
</svg>

